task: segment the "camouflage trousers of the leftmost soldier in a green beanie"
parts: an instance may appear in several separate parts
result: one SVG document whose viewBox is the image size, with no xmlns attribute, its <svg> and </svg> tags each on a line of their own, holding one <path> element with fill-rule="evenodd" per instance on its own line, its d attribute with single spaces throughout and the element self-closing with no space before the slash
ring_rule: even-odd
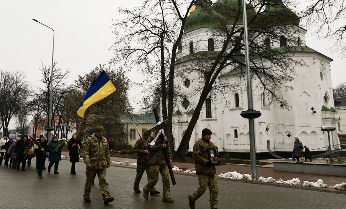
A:
<svg viewBox="0 0 346 209">
<path fill-rule="evenodd" d="M 102 193 L 103 201 L 107 200 L 107 198 L 110 197 L 110 194 L 109 194 L 108 185 L 106 182 L 106 168 L 103 168 L 103 169 L 86 169 L 85 174 L 86 174 L 86 181 L 85 181 L 85 186 L 84 186 L 83 198 L 87 198 L 90 196 L 91 183 L 97 174 L 97 176 L 99 177 L 99 184 L 100 184 L 100 190 Z"/>
</svg>

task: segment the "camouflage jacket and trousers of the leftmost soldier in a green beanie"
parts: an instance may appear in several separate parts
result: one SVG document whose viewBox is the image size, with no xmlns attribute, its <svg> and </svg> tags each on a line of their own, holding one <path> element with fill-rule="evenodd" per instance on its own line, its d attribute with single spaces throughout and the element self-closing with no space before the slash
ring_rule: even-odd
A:
<svg viewBox="0 0 346 209">
<path fill-rule="evenodd" d="M 91 182 L 96 174 L 99 177 L 100 190 L 103 201 L 109 197 L 108 186 L 106 182 L 106 167 L 110 165 L 109 145 L 107 139 L 102 136 L 99 140 L 95 133 L 85 140 L 83 145 L 83 159 L 86 164 L 86 181 L 84 186 L 84 198 L 89 198 L 91 192 Z M 91 169 L 88 165 L 91 165 Z"/>
</svg>

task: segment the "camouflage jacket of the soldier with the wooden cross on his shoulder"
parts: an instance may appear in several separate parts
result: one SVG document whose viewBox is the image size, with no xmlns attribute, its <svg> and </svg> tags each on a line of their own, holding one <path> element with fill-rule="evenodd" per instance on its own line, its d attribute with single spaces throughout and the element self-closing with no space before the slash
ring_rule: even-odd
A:
<svg viewBox="0 0 346 209">
<path fill-rule="evenodd" d="M 148 145 L 147 145 L 147 150 L 149 151 L 148 163 L 151 165 L 166 164 L 165 154 L 164 154 L 163 148 L 161 146 L 162 144 L 160 141 L 160 137 L 158 137 L 155 145 L 152 146 L 152 145 L 150 145 L 150 143 L 154 139 L 155 139 L 155 137 L 152 137 L 151 139 L 148 140 Z M 167 144 L 165 149 L 167 149 L 169 158 L 172 159 L 172 151 L 171 151 L 169 144 Z"/>
</svg>

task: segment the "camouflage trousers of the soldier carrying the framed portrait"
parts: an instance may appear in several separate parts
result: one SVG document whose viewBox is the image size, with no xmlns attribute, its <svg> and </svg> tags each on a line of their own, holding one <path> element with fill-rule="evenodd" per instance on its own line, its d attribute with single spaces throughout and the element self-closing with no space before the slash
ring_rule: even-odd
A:
<svg viewBox="0 0 346 209">
<path fill-rule="evenodd" d="M 217 203 L 219 202 L 217 200 L 218 195 L 218 188 L 217 188 L 217 177 L 215 174 L 211 175 L 198 175 L 198 183 L 199 187 L 197 190 L 191 194 L 192 201 L 198 200 L 202 194 L 207 190 L 209 187 L 209 193 L 210 193 L 210 208 L 217 208 Z"/>
</svg>

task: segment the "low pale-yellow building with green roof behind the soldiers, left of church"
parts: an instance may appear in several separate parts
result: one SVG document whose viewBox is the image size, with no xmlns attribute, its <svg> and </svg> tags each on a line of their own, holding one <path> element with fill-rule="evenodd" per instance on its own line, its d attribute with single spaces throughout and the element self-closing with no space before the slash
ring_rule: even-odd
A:
<svg viewBox="0 0 346 209">
<path fill-rule="evenodd" d="M 133 124 L 129 114 L 122 114 L 120 121 L 124 124 L 124 130 L 127 130 L 128 136 L 128 145 L 134 146 L 136 140 L 140 138 L 138 132 L 143 136 L 143 133 L 146 129 L 151 129 L 156 125 L 154 114 L 131 114 L 133 121 L 136 124 Z M 138 132 L 136 131 L 136 128 Z"/>
</svg>

